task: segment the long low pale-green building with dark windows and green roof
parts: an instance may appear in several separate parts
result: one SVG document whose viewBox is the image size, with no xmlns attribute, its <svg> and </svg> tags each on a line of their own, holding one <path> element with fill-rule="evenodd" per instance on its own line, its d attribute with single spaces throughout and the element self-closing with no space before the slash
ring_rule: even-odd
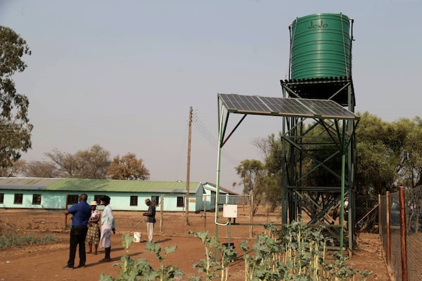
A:
<svg viewBox="0 0 422 281">
<path fill-rule="evenodd" d="M 185 211 L 186 188 L 182 181 L 0 178 L 0 208 L 67 209 L 78 202 L 81 193 L 86 193 L 88 202 L 110 196 L 113 210 L 145 210 L 145 199 L 150 198 L 155 204 L 162 204 L 164 211 Z M 215 210 L 214 184 L 191 182 L 188 188 L 188 211 Z M 236 203 L 235 192 L 219 189 L 219 208 Z"/>
</svg>

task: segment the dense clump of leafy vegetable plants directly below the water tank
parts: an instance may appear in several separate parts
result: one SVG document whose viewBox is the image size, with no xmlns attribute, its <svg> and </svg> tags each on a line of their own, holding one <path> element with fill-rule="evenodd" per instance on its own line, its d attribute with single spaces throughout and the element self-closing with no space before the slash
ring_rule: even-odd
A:
<svg viewBox="0 0 422 281">
<path fill-rule="evenodd" d="M 252 246 L 241 243 L 245 260 L 245 280 L 355 280 L 359 273 L 364 279 L 371 272 L 346 266 L 347 257 L 334 253 L 328 257 L 322 228 L 312 228 L 300 222 L 278 230 L 273 224 L 258 235 Z"/>
</svg>

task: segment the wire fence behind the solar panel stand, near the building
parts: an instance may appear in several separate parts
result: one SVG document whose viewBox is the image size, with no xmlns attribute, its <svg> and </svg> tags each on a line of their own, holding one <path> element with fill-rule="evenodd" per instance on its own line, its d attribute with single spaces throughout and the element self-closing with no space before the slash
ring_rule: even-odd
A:
<svg viewBox="0 0 422 281">
<path fill-rule="evenodd" d="M 179 202 L 184 199 L 179 199 Z M 251 199 L 248 196 L 222 195 L 218 199 L 217 208 L 215 200 L 215 195 L 191 196 L 189 201 L 196 203 L 196 209 L 191 209 L 189 205 L 186 212 L 182 204 L 179 204 L 178 210 L 174 209 L 174 196 L 162 195 L 156 207 L 155 231 L 160 235 L 183 237 L 189 236 L 189 231 L 208 231 L 210 235 L 218 234 L 222 239 L 250 239 L 258 233 L 264 233 L 264 223 L 280 222 L 280 209 L 259 207 L 252 215 Z M 224 214 L 226 205 L 236 206 L 236 217 Z"/>
</svg>

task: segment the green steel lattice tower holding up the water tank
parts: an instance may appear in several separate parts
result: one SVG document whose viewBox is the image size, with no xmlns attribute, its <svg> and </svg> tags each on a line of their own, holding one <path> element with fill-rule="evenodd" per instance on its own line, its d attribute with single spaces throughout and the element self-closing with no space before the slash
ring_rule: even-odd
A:
<svg viewBox="0 0 422 281">
<path fill-rule="evenodd" d="M 281 87 L 283 98 L 333 100 L 354 112 L 354 89 L 347 77 L 281 80 Z M 309 224 L 325 226 L 340 251 L 352 250 L 357 121 L 283 118 L 282 223 L 307 217 Z"/>
</svg>

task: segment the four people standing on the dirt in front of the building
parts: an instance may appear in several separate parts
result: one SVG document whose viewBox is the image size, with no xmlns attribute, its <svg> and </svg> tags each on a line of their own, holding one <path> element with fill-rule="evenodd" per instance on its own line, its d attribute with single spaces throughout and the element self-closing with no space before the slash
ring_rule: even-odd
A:
<svg viewBox="0 0 422 281">
<path fill-rule="evenodd" d="M 104 206 L 103 214 L 96 209 L 98 203 L 92 201 L 87 203 L 88 196 L 85 193 L 79 195 L 79 203 L 72 205 L 65 211 L 65 214 L 72 214 L 72 228 L 70 229 L 70 249 L 69 260 L 64 269 L 75 268 L 76 249 L 79 246 L 79 265 L 77 268 L 84 268 L 87 261 L 85 243 L 89 245 L 88 254 L 92 254 L 94 245 L 94 254 L 98 254 L 98 244 L 104 248 L 104 258 L 100 262 L 108 262 L 111 253 L 111 233 L 116 233 L 115 218 L 113 210 L 110 207 L 110 197 L 107 195 L 100 198 L 101 205 Z M 147 216 L 148 241 L 153 241 L 155 206 L 148 198 L 145 200 L 148 211 L 143 213 Z M 101 227 L 100 227 L 101 223 Z"/>
</svg>

